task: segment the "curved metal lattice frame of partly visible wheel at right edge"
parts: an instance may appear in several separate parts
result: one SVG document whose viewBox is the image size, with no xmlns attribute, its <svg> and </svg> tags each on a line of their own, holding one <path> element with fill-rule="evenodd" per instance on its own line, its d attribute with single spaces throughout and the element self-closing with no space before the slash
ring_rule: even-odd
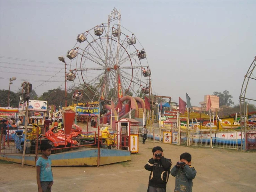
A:
<svg viewBox="0 0 256 192">
<path fill-rule="evenodd" d="M 242 128 L 244 128 L 244 139 L 245 139 L 245 143 L 247 143 L 246 141 L 246 132 L 247 132 L 247 106 L 246 106 L 246 101 L 256 101 L 256 98 L 247 98 L 246 97 L 246 91 L 249 85 L 249 81 L 251 80 L 256 80 L 256 77 L 253 75 L 253 72 L 256 68 L 256 56 L 254 57 L 253 62 L 251 63 L 250 67 L 247 70 L 246 75 L 244 76 L 244 81 L 242 84 L 242 88 L 241 88 L 241 93 L 240 93 L 240 97 L 239 97 L 239 101 L 240 101 L 240 123 L 242 122 L 241 120 L 244 121 L 244 124 L 240 125 L 241 126 L 241 132 L 242 132 Z M 242 141 L 242 134 L 241 134 L 241 141 Z M 241 145 L 242 144 L 241 142 Z M 245 144 L 246 145 L 246 144 Z M 241 150 L 246 151 L 246 146 L 244 146 L 244 149 L 242 148 Z"/>
</svg>

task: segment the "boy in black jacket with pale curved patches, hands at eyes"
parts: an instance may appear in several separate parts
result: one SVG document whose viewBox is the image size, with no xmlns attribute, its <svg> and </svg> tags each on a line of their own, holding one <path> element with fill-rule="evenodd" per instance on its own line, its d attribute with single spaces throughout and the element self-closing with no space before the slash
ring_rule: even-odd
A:
<svg viewBox="0 0 256 192">
<path fill-rule="evenodd" d="M 161 147 L 154 147 L 152 152 L 153 157 L 145 165 L 145 169 L 151 171 L 147 192 L 165 192 L 172 162 L 163 156 Z"/>
</svg>

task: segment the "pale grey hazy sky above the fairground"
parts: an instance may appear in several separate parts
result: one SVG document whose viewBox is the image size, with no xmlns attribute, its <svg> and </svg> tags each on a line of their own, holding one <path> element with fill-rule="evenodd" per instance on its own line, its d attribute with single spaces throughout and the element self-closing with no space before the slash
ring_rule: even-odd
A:
<svg viewBox="0 0 256 192">
<path fill-rule="evenodd" d="M 24 80 L 38 95 L 64 88 L 58 56 L 72 49 L 78 33 L 106 23 L 114 7 L 145 48 L 153 93 L 178 102 L 187 92 L 199 106 L 204 95 L 228 90 L 238 104 L 256 56 L 255 0 L 0 0 L 0 89 L 12 76 L 12 91 Z M 250 81 L 247 97 L 256 99 L 256 80 Z"/>
</svg>

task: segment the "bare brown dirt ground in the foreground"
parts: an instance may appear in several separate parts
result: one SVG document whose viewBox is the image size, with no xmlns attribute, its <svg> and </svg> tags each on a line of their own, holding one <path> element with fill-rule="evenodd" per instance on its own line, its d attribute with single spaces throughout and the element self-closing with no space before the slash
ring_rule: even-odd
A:
<svg viewBox="0 0 256 192">
<path fill-rule="evenodd" d="M 192 155 L 197 175 L 194 192 L 255 192 L 256 153 L 225 149 L 184 147 L 155 143 L 164 156 L 177 162 L 183 152 Z M 147 191 L 150 172 L 144 169 L 152 157 L 152 142 L 139 143 L 139 153 L 131 161 L 100 167 L 53 167 L 52 192 L 131 192 Z M 174 190 L 175 178 L 170 175 L 167 191 Z M 0 191 L 37 191 L 36 168 L 0 162 Z"/>
</svg>

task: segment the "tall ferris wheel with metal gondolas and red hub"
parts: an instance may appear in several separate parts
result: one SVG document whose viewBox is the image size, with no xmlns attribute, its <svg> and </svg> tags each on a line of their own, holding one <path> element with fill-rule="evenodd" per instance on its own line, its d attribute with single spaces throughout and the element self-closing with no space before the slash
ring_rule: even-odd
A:
<svg viewBox="0 0 256 192">
<path fill-rule="evenodd" d="M 94 95 L 91 100 L 149 94 L 151 71 L 146 52 L 136 36 L 121 26 L 120 10 L 114 8 L 108 23 L 78 34 L 76 40 L 67 52 L 76 69 L 70 70 L 67 80 L 78 77 L 81 90 Z"/>
</svg>

